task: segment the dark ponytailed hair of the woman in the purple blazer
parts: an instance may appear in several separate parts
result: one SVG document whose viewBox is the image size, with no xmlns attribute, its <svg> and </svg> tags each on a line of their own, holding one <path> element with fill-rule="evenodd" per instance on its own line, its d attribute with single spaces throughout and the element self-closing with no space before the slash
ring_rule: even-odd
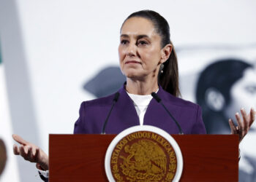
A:
<svg viewBox="0 0 256 182">
<path fill-rule="evenodd" d="M 148 20 L 151 20 L 157 30 L 157 33 L 159 33 L 159 36 L 161 36 L 162 38 L 161 47 L 165 47 L 166 44 L 171 44 L 173 47 L 173 43 L 170 41 L 170 27 L 167 23 L 167 20 L 159 15 L 159 13 L 151 10 L 134 12 L 129 15 L 126 20 L 124 20 L 124 23 L 131 17 L 144 17 Z M 172 52 L 170 53 L 170 57 L 168 58 L 168 60 L 165 61 L 165 63 L 163 63 L 163 65 L 163 73 L 159 74 L 159 84 L 164 90 L 178 97 L 181 92 L 178 88 L 178 60 L 174 47 Z"/>
</svg>

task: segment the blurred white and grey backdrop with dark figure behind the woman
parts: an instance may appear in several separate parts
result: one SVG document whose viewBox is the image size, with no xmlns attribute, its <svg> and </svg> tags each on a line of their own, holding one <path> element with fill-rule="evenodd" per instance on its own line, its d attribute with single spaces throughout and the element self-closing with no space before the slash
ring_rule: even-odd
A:
<svg viewBox="0 0 256 182">
<path fill-rule="evenodd" d="M 119 31 L 141 9 L 170 24 L 182 98 L 203 107 L 208 133 L 230 133 L 229 117 L 256 108 L 256 1 L 0 0 L 0 181 L 40 181 L 12 154 L 12 133 L 48 151 L 49 133 L 72 133 L 83 100 L 121 87 Z M 240 145 L 239 181 L 256 181 L 255 127 Z"/>
</svg>

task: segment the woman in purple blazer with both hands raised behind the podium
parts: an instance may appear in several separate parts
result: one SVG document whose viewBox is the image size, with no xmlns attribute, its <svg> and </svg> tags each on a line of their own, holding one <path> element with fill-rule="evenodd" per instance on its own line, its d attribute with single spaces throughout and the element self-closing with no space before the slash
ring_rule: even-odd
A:
<svg viewBox="0 0 256 182">
<path fill-rule="evenodd" d="M 110 115 L 107 133 L 118 133 L 127 127 L 150 124 L 160 127 L 170 134 L 178 133 L 178 128 L 166 111 L 152 99 L 151 92 L 157 92 L 162 103 L 167 106 L 181 125 L 185 134 L 206 133 L 201 119 L 200 107 L 178 97 L 178 63 L 170 28 L 164 17 L 157 12 L 145 10 L 132 13 L 121 26 L 118 47 L 120 68 L 127 77 L 124 87 L 118 92 L 120 97 Z M 75 122 L 74 133 L 100 133 L 103 122 L 113 103 L 114 95 L 81 104 L 80 117 Z M 249 130 L 254 111 L 244 120 L 238 116 L 238 129 L 230 122 L 232 132 L 241 138 Z M 248 118 L 246 118 L 248 117 Z M 14 135 L 21 146 L 14 146 L 14 153 L 24 159 L 37 162 L 37 167 L 48 170 L 47 155 L 31 143 Z"/>
</svg>

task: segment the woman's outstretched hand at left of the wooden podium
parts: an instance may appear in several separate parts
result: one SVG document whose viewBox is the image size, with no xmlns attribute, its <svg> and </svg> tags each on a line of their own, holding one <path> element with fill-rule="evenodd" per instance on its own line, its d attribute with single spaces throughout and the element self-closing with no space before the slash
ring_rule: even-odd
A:
<svg viewBox="0 0 256 182">
<path fill-rule="evenodd" d="M 20 155 L 30 162 L 36 162 L 39 170 L 49 169 L 48 155 L 42 149 L 33 143 L 23 140 L 19 135 L 12 135 L 12 138 L 20 143 L 19 147 L 16 144 L 13 145 L 13 153 L 15 155 Z"/>
</svg>

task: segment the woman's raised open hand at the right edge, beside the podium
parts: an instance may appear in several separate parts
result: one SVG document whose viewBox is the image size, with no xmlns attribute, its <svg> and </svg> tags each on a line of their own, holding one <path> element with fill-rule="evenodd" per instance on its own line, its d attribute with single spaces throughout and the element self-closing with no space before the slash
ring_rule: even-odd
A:
<svg viewBox="0 0 256 182">
<path fill-rule="evenodd" d="M 236 113 L 236 121 L 238 126 L 236 126 L 232 119 L 229 119 L 231 134 L 238 134 L 239 135 L 239 143 L 243 140 L 244 136 L 249 131 L 250 127 L 252 126 L 252 123 L 255 121 L 255 114 L 253 108 L 251 108 L 250 113 L 247 115 L 246 111 L 244 111 L 244 108 L 241 108 L 241 114 L 243 117 L 243 121 L 241 120 L 238 113 Z"/>
</svg>

